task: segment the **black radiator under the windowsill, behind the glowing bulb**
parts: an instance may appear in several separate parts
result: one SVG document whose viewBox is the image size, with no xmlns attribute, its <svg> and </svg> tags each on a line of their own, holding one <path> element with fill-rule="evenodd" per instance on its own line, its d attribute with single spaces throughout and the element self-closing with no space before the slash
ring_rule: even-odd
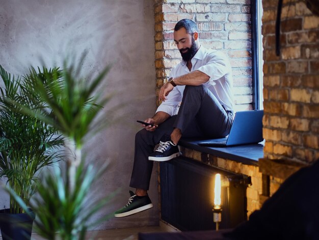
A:
<svg viewBox="0 0 319 240">
<path fill-rule="evenodd" d="M 222 222 L 220 228 L 233 228 L 247 220 L 244 175 L 221 171 L 185 157 L 161 162 L 161 218 L 182 231 L 214 230 L 214 176 L 220 173 L 222 184 Z M 248 179 L 247 181 L 243 179 Z"/>
</svg>

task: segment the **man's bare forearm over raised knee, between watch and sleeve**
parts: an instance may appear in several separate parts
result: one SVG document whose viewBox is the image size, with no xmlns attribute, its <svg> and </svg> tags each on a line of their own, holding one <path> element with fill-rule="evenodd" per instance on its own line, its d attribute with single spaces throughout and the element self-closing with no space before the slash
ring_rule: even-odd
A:
<svg viewBox="0 0 319 240">
<path fill-rule="evenodd" d="M 199 70 L 173 78 L 173 81 L 175 82 L 176 85 L 190 85 L 190 86 L 199 86 L 207 82 L 208 80 L 209 80 L 209 76 Z"/>
</svg>

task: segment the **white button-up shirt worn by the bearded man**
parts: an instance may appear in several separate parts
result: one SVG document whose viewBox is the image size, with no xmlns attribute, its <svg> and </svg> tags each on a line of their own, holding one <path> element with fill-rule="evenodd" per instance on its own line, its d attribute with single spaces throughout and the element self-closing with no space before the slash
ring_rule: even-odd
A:
<svg viewBox="0 0 319 240">
<path fill-rule="evenodd" d="M 192 71 L 199 70 L 209 76 L 203 85 L 215 95 L 226 110 L 233 111 L 232 72 L 228 58 L 216 50 L 208 50 L 200 46 L 192 58 L 192 69 L 189 70 L 186 62 L 181 60 L 171 71 L 170 77 L 176 78 Z M 179 103 L 183 97 L 185 86 L 176 86 L 168 94 L 167 100 L 158 106 L 156 112 L 163 111 L 173 116 L 178 113 Z"/>
</svg>

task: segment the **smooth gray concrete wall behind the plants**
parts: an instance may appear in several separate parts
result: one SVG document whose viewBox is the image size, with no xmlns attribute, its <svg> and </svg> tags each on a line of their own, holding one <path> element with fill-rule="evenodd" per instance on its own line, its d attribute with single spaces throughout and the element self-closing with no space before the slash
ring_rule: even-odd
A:
<svg viewBox="0 0 319 240">
<path fill-rule="evenodd" d="M 83 69 L 96 74 L 113 64 L 107 76 L 105 94 L 116 93 L 104 112 L 121 105 L 112 115 L 119 119 L 88 139 L 87 162 L 102 165 L 107 172 L 92 189 L 91 200 L 120 193 L 99 215 L 124 206 L 134 156 L 134 137 L 140 125 L 135 121 L 155 111 L 154 11 L 153 0 L 0 0 L 0 64 L 14 74 L 30 65 L 61 66 L 66 54 L 88 56 Z M 158 224 L 157 165 L 154 165 L 150 197 L 151 210 L 115 219 L 97 229 Z M 8 206 L 0 192 L 0 208 Z"/>
</svg>

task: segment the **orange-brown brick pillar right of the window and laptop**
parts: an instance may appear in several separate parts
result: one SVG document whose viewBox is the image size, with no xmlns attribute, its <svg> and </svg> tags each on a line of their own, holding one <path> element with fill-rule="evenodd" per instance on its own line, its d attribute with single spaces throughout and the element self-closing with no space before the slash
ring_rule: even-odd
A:
<svg viewBox="0 0 319 240">
<path fill-rule="evenodd" d="M 319 17 L 284 0 L 276 56 L 278 0 L 262 4 L 264 157 L 310 163 L 319 158 Z"/>
</svg>

